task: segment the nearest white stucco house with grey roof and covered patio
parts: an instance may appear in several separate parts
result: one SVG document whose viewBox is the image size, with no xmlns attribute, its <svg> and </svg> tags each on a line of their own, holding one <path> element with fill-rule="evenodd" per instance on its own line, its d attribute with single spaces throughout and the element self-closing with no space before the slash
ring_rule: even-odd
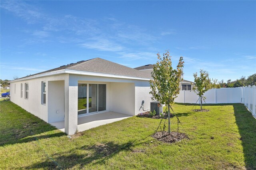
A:
<svg viewBox="0 0 256 170">
<path fill-rule="evenodd" d="M 137 115 L 142 101 L 150 109 L 150 79 L 143 71 L 94 58 L 10 81 L 10 101 L 71 135 L 89 115 Z"/>
</svg>

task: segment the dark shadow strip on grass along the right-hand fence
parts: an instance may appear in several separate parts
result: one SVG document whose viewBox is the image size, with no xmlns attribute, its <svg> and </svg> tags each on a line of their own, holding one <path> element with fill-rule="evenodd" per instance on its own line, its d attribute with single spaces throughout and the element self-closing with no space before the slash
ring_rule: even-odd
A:
<svg viewBox="0 0 256 170">
<path fill-rule="evenodd" d="M 233 104 L 233 107 L 241 135 L 246 169 L 256 169 L 256 119 L 243 104 Z"/>
</svg>

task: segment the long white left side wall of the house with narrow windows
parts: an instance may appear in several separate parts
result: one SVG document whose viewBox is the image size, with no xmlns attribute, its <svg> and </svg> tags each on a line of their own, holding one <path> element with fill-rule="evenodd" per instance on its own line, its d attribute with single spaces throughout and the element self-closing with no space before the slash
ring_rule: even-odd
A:
<svg viewBox="0 0 256 170">
<path fill-rule="evenodd" d="M 46 101 L 48 101 L 48 81 L 64 80 L 68 75 L 56 75 L 51 77 L 40 77 L 24 81 L 10 83 L 10 101 L 19 105 L 26 111 L 48 122 L 48 102 L 42 105 L 42 81 L 46 81 Z M 23 97 L 20 97 L 20 84 L 23 84 Z M 28 99 L 25 99 L 25 83 L 28 83 Z M 15 89 L 16 87 L 16 89 Z"/>
</svg>

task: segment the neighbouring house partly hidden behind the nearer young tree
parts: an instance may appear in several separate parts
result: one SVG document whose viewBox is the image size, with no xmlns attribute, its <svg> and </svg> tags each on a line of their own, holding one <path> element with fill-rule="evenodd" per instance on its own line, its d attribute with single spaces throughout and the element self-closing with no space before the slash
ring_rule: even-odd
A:
<svg viewBox="0 0 256 170">
<path fill-rule="evenodd" d="M 134 69 L 137 69 L 139 71 L 142 71 L 144 73 L 151 75 L 151 72 L 153 71 L 153 67 L 154 67 L 153 64 L 148 64 L 148 65 L 142 65 L 140 67 L 136 67 Z M 183 74 L 182 74 L 182 79 L 183 79 Z M 180 82 L 179 87 L 180 87 L 180 90 L 192 90 L 193 85 L 194 85 L 194 82 L 183 79 Z"/>
</svg>

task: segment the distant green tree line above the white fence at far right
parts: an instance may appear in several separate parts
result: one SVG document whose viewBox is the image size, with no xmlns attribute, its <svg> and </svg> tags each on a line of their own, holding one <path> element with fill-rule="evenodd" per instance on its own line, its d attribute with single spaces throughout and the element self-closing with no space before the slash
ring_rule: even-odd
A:
<svg viewBox="0 0 256 170">
<path fill-rule="evenodd" d="M 253 86 L 256 85 L 256 73 L 253 75 L 250 75 L 247 79 L 245 76 L 242 76 L 240 79 L 236 79 L 235 81 L 231 81 L 231 79 L 229 79 L 227 81 L 227 83 L 225 83 L 223 81 L 223 79 L 221 81 L 218 82 L 218 85 L 220 85 L 220 87 L 243 87 L 243 86 Z"/>
</svg>

